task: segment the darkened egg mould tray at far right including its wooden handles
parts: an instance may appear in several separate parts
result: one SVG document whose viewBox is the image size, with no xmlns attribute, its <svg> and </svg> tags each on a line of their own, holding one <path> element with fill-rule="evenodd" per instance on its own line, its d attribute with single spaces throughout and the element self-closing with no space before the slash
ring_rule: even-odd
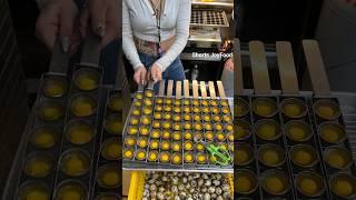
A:
<svg viewBox="0 0 356 200">
<path fill-rule="evenodd" d="M 329 91 L 317 42 L 304 40 L 303 48 L 314 91 L 299 91 L 289 42 L 276 43 L 281 90 L 270 89 L 263 42 L 249 43 L 254 89 L 235 78 L 237 198 L 356 198 L 352 132 Z"/>
</svg>

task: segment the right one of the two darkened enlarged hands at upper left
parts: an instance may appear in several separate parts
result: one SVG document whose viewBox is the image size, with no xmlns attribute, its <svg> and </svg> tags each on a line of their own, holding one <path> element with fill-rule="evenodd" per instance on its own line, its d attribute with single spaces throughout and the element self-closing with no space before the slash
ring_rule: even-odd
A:
<svg viewBox="0 0 356 200">
<path fill-rule="evenodd" d="M 88 0 L 80 19 L 80 32 L 85 38 L 88 29 L 101 37 L 101 44 L 106 46 L 119 36 L 119 1 Z"/>
</svg>

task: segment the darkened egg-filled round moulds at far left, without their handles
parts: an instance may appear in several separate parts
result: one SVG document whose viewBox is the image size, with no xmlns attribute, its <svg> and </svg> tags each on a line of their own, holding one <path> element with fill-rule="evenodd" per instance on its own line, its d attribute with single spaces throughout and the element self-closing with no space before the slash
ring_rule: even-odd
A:
<svg viewBox="0 0 356 200">
<path fill-rule="evenodd" d="M 116 163 L 122 156 L 118 134 L 123 101 L 119 92 L 109 91 L 101 131 L 96 123 L 100 79 L 91 68 L 78 69 L 71 84 L 66 77 L 44 76 L 16 199 L 119 198 Z"/>
</svg>

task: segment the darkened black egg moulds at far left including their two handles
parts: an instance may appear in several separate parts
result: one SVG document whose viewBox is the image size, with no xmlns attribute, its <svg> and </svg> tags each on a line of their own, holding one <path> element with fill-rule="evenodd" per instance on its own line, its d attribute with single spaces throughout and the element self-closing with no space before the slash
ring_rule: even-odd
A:
<svg viewBox="0 0 356 200">
<path fill-rule="evenodd" d="M 56 43 L 3 199 L 28 194 L 56 199 L 66 191 L 82 199 L 121 196 L 118 134 L 123 103 L 129 102 L 123 100 L 122 89 L 102 86 L 100 51 L 100 39 L 89 36 L 80 63 L 68 72 L 69 54 Z M 70 164 L 63 167 L 66 162 Z"/>
</svg>

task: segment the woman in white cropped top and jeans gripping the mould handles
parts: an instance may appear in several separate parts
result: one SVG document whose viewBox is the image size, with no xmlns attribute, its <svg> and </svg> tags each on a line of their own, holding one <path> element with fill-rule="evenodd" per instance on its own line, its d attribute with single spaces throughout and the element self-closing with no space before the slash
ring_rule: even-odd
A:
<svg viewBox="0 0 356 200">
<path fill-rule="evenodd" d="M 123 0 L 122 49 L 138 84 L 184 80 L 179 59 L 189 37 L 190 0 Z"/>
</svg>

